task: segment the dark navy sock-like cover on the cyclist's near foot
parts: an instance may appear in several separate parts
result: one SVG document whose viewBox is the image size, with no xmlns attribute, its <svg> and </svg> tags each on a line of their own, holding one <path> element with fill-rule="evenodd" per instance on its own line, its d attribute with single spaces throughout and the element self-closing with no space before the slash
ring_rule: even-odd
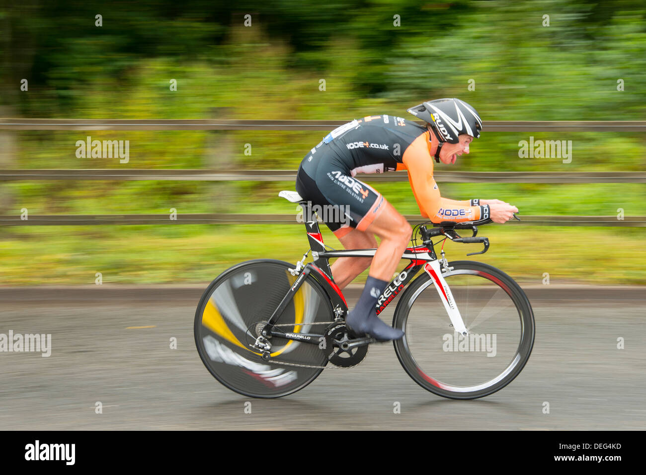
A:
<svg viewBox="0 0 646 475">
<path fill-rule="evenodd" d="M 404 336 L 402 330 L 397 330 L 382 322 L 375 312 L 377 299 L 387 285 L 388 281 L 368 276 L 366 287 L 364 287 L 357 305 L 354 310 L 348 312 L 346 318 L 346 323 L 357 334 L 369 334 L 379 341 L 389 341 Z"/>
</svg>

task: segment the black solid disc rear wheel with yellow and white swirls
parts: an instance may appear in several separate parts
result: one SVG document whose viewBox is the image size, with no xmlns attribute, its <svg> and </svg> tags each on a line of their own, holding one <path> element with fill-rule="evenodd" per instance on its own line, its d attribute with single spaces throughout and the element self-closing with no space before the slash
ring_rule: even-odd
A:
<svg viewBox="0 0 646 475">
<path fill-rule="evenodd" d="M 295 282 L 293 267 L 273 259 L 247 261 L 229 268 L 205 290 L 195 313 L 195 343 L 202 362 L 220 383 L 253 398 L 279 398 L 306 387 L 328 363 L 318 345 L 272 337 L 271 359 L 263 361 L 249 346 Z M 333 320 L 328 296 L 311 277 L 279 316 L 285 332 L 320 333 Z M 275 363 L 311 365 L 295 367 Z"/>
</svg>

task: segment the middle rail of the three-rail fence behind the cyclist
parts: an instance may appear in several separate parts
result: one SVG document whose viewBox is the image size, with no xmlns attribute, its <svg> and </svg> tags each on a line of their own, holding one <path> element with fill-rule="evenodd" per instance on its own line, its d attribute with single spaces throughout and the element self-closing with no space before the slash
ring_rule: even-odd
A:
<svg viewBox="0 0 646 475">
<path fill-rule="evenodd" d="M 364 181 L 408 181 L 406 172 L 357 174 Z M 646 183 L 646 172 L 436 172 L 444 183 Z M 0 170 L 0 181 L 294 181 L 296 170 Z"/>
</svg>

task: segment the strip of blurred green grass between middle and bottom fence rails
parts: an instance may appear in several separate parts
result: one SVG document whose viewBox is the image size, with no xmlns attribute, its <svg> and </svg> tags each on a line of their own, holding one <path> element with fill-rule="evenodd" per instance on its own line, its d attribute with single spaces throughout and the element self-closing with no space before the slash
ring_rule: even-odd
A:
<svg viewBox="0 0 646 475">
<path fill-rule="evenodd" d="M 419 214 L 407 181 L 361 179 L 377 188 L 402 214 Z M 618 208 L 623 208 L 626 216 L 639 216 L 646 201 L 646 187 L 641 183 L 440 181 L 438 185 L 442 196 L 501 199 L 526 215 L 616 216 Z M 278 197 L 280 190 L 294 189 L 291 181 L 14 181 L 5 186 L 20 196 L 15 213 L 23 207 L 30 214 L 167 214 L 170 208 L 179 213 L 297 213 L 297 205 Z"/>
</svg>

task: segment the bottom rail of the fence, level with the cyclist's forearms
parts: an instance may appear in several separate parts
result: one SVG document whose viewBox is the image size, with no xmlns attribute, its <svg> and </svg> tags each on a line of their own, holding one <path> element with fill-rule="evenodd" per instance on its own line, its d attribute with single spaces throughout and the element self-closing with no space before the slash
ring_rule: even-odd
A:
<svg viewBox="0 0 646 475">
<path fill-rule="evenodd" d="M 413 224 L 428 219 L 419 214 L 404 214 Z M 508 225 L 545 225 L 545 226 L 620 226 L 646 227 L 646 216 L 523 216 L 521 221 L 509 221 Z M 203 224 L 302 224 L 297 214 L 177 214 L 170 219 L 168 214 L 79 214 L 79 215 L 20 215 L 0 216 L 0 226 L 87 226 L 87 225 L 203 225 Z"/>
</svg>

